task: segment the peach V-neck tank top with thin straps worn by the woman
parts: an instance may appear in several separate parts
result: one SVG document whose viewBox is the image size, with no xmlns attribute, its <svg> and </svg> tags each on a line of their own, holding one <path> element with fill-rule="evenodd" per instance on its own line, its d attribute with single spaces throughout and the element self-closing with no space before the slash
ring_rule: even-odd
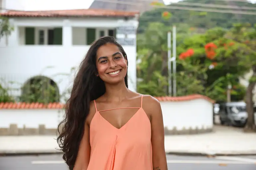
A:
<svg viewBox="0 0 256 170">
<path fill-rule="evenodd" d="M 90 124 L 91 154 L 87 170 L 153 170 L 151 123 L 141 107 L 117 129 L 97 110 Z M 125 107 L 127 108 L 127 107 Z M 124 108 L 115 108 L 124 109 Z M 114 110 L 114 109 L 108 109 Z"/>
</svg>

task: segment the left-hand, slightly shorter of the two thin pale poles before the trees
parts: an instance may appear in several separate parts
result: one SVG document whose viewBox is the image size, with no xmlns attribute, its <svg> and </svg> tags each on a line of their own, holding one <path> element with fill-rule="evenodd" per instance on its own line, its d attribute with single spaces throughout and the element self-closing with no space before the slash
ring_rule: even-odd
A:
<svg viewBox="0 0 256 170">
<path fill-rule="evenodd" d="M 171 47 L 172 47 L 172 33 L 171 31 L 167 34 L 167 44 L 168 44 L 168 93 L 169 96 L 172 96 L 172 53 L 171 53 Z"/>
</svg>

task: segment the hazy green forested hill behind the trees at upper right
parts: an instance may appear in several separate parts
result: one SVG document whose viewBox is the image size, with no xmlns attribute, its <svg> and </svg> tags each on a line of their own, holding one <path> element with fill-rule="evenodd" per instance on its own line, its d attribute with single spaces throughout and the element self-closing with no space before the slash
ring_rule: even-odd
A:
<svg viewBox="0 0 256 170">
<path fill-rule="evenodd" d="M 214 0 L 185 0 L 182 3 L 202 3 L 202 4 L 214 4 L 214 5 L 229 5 L 229 6 L 246 6 L 254 7 L 256 9 L 256 4 L 252 4 L 248 1 L 235 2 L 235 1 L 214 1 Z M 232 11 L 246 11 L 254 12 L 256 10 L 248 9 L 227 9 L 227 8 L 213 8 L 213 7 L 198 7 L 198 6 L 188 6 L 181 5 L 179 3 L 173 3 L 168 6 L 179 6 L 179 7 L 189 7 L 189 8 L 209 8 L 216 10 L 232 10 Z M 172 14 L 169 20 L 164 20 L 162 18 L 162 13 L 168 11 Z M 148 27 L 150 22 L 162 22 L 169 26 L 172 24 L 188 24 L 189 27 L 195 28 L 213 28 L 222 27 L 230 28 L 233 23 L 256 23 L 256 15 L 244 15 L 244 14 L 230 14 L 230 13 L 215 13 L 215 12 L 200 12 L 200 11 L 189 11 L 189 10 L 178 10 L 178 9 L 164 9 L 155 8 L 151 11 L 147 11 L 140 16 L 140 24 L 138 32 L 141 33 Z"/>
</svg>

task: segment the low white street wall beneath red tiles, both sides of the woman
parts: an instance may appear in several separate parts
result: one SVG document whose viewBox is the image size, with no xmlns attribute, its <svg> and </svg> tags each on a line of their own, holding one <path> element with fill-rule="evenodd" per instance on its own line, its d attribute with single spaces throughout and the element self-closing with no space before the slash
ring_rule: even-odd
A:
<svg viewBox="0 0 256 170">
<path fill-rule="evenodd" d="M 213 106 L 205 99 L 190 101 L 161 101 L 164 126 L 169 130 L 211 129 L 213 126 Z M 18 128 L 57 128 L 63 119 L 64 110 L 58 109 L 0 109 L 0 128 L 17 124 Z"/>
</svg>

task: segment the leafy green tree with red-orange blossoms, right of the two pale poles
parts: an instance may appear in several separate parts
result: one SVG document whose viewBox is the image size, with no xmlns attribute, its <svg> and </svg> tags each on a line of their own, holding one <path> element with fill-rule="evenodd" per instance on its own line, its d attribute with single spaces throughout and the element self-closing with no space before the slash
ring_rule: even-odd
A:
<svg viewBox="0 0 256 170">
<path fill-rule="evenodd" d="M 245 43 L 228 38 L 229 34 L 230 31 L 214 28 L 184 39 L 177 47 L 179 64 L 184 72 L 200 80 L 205 95 L 220 101 L 226 101 L 228 84 L 236 86 L 231 90 L 232 100 L 243 99 L 245 87 L 237 79 L 249 69 L 243 61 L 245 56 L 255 55 Z M 192 49 L 192 55 L 186 49 Z"/>
</svg>

